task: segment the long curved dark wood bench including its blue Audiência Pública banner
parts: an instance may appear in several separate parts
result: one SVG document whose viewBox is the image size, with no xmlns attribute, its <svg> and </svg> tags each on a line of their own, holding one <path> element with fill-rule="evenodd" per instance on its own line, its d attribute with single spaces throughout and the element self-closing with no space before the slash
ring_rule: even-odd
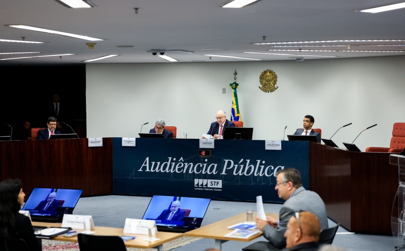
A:
<svg viewBox="0 0 405 251">
<path fill-rule="evenodd" d="M 289 141 L 282 142 L 281 151 L 264 148 L 259 140 L 222 140 L 215 142 L 210 157 L 201 157 L 198 139 L 137 138 L 133 148 L 122 147 L 121 138 L 104 138 L 103 147 L 92 148 L 87 139 L 3 141 L 0 180 L 21 178 L 27 196 L 34 187 L 58 187 L 83 189 L 83 196 L 255 201 L 262 195 L 264 201 L 283 202 L 274 191 L 274 173 L 294 167 L 304 186 L 324 200 L 329 218 L 353 232 L 391 233 L 398 168 L 389 164 L 389 153 Z M 210 180 L 220 180 L 221 187 Z"/>
</svg>

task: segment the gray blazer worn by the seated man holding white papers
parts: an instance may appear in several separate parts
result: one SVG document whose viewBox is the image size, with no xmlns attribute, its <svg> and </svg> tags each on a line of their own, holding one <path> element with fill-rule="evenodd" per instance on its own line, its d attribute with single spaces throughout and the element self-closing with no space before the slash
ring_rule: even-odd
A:
<svg viewBox="0 0 405 251">
<path fill-rule="evenodd" d="M 321 230 L 328 228 L 327 214 L 324 201 L 315 192 L 298 187 L 293 192 L 290 199 L 284 202 L 280 209 L 279 223 L 277 227 L 266 225 L 263 227 L 263 236 L 268 239 L 274 246 L 284 247 L 286 238 L 284 232 L 287 230 L 287 223 L 290 217 L 297 211 L 309 211 L 315 214 L 321 222 Z"/>
</svg>

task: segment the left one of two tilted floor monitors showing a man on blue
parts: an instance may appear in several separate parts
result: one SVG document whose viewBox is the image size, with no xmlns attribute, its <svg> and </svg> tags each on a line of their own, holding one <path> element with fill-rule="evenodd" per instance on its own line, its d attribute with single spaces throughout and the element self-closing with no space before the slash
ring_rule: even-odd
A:
<svg viewBox="0 0 405 251">
<path fill-rule="evenodd" d="M 23 209 L 36 222 L 62 222 L 64 214 L 73 214 L 83 190 L 34 188 Z"/>
</svg>

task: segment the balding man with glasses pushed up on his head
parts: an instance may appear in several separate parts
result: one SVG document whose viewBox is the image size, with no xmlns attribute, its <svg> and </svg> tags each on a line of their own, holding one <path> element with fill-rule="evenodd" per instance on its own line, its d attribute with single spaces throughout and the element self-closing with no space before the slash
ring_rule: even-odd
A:
<svg viewBox="0 0 405 251">
<path fill-rule="evenodd" d="M 284 233 L 289 251 L 317 251 L 321 223 L 311 212 L 296 212 Z"/>
</svg>

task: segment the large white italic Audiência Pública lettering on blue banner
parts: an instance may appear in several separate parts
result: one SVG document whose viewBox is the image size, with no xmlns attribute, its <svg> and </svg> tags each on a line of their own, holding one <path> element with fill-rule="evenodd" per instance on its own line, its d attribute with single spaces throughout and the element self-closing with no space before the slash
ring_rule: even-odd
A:
<svg viewBox="0 0 405 251">
<path fill-rule="evenodd" d="M 218 171 L 216 170 L 218 164 L 211 163 L 210 165 L 207 166 L 207 163 L 201 164 L 193 164 L 193 163 L 183 163 L 183 157 L 179 159 L 178 162 L 176 161 L 176 158 L 168 157 L 167 162 L 163 162 L 161 165 L 161 162 L 154 162 L 154 161 L 149 161 L 149 157 L 145 159 L 143 162 L 142 166 L 139 168 L 138 172 L 162 172 L 162 173 L 186 173 L 189 172 L 189 174 L 213 174 L 216 175 Z M 208 159 L 205 159 L 205 162 L 207 162 Z M 238 164 L 235 165 L 233 160 L 230 159 L 224 159 L 224 165 L 222 168 L 222 173 L 220 175 L 226 175 L 226 171 L 228 169 L 233 169 L 233 175 L 244 175 L 244 176 L 276 176 L 275 174 L 279 169 L 284 169 L 284 166 L 277 166 L 274 168 L 273 166 L 267 166 L 265 165 L 260 165 L 260 164 L 265 164 L 266 161 L 261 161 L 261 160 L 256 160 L 256 163 L 250 164 L 250 159 L 246 159 L 245 163 L 243 162 L 243 159 L 239 161 Z M 262 163 L 260 163 L 262 162 Z M 177 164 L 176 164 L 177 163 Z M 256 166 L 255 166 L 256 165 Z M 145 170 L 142 170 L 145 168 Z"/>
</svg>

